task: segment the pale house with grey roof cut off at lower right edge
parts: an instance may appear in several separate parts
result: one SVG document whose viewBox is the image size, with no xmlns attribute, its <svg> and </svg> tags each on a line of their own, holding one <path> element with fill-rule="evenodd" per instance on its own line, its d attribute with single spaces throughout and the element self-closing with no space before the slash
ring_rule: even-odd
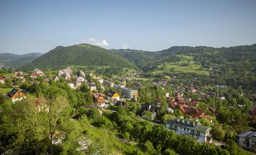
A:
<svg viewBox="0 0 256 155">
<path fill-rule="evenodd" d="M 255 131 L 247 131 L 240 132 L 235 139 L 235 142 L 247 149 L 254 149 L 254 145 L 256 145 L 256 132 Z"/>
</svg>

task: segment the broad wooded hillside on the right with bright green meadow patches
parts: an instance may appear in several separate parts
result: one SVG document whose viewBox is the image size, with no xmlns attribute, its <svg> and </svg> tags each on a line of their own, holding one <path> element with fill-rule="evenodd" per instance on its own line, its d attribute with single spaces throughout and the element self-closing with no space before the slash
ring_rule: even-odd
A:
<svg viewBox="0 0 256 155">
<path fill-rule="evenodd" d="M 144 78 L 178 75 L 198 85 L 221 84 L 256 89 L 256 44 L 214 48 L 173 46 L 157 52 L 115 50 L 144 71 Z"/>
</svg>

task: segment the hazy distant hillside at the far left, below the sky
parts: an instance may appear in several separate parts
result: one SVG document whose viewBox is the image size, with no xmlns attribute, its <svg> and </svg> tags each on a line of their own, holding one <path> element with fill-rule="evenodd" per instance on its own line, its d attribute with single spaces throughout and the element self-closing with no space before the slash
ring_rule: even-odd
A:
<svg viewBox="0 0 256 155">
<path fill-rule="evenodd" d="M 26 63 L 31 63 L 36 58 L 44 55 L 42 53 L 27 53 L 24 55 L 15 55 L 12 53 L 0 53 L 0 63 L 6 66 L 19 67 Z"/>
</svg>

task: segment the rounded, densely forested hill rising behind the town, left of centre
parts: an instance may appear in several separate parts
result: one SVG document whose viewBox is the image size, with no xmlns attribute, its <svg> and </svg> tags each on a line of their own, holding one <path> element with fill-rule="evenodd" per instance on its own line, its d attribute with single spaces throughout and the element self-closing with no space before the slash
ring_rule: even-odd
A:
<svg viewBox="0 0 256 155">
<path fill-rule="evenodd" d="M 127 59 L 107 49 L 89 44 L 58 46 L 32 63 L 23 65 L 23 71 L 39 69 L 59 69 L 61 66 L 111 66 L 116 68 L 137 68 Z"/>
</svg>

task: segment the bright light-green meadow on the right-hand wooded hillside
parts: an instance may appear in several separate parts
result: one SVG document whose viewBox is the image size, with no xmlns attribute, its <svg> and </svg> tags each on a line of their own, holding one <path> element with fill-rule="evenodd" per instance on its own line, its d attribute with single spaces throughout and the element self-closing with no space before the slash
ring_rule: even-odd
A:
<svg viewBox="0 0 256 155">
<path fill-rule="evenodd" d="M 195 61 L 193 60 L 192 56 L 187 55 L 177 55 L 181 58 L 180 62 L 174 62 L 174 63 L 165 63 L 158 66 L 158 69 L 156 69 L 153 74 L 158 74 L 161 72 L 195 72 L 199 74 L 207 74 L 209 72 L 207 71 L 201 71 L 199 68 L 201 65 L 195 64 Z M 183 63 L 189 63 L 188 66 L 183 66 Z M 161 70 L 161 69 L 164 70 Z"/>
</svg>

